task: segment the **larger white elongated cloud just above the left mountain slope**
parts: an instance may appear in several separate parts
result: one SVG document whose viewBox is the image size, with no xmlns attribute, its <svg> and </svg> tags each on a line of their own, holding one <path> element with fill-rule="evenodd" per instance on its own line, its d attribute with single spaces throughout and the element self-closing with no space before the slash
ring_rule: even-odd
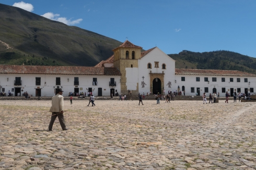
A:
<svg viewBox="0 0 256 170">
<path fill-rule="evenodd" d="M 60 14 L 53 14 L 52 12 L 47 12 L 44 15 L 41 15 L 45 18 L 54 20 L 54 21 L 59 21 L 59 22 L 63 22 L 67 25 L 74 25 L 77 23 L 80 23 L 81 21 L 83 21 L 83 19 L 76 19 L 76 20 L 71 20 L 71 19 L 67 19 L 65 17 L 60 17 Z"/>
</svg>

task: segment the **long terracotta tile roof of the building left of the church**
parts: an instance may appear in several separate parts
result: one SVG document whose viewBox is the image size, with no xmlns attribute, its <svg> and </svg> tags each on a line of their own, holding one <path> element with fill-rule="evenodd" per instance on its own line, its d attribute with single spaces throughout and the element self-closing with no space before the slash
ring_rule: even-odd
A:
<svg viewBox="0 0 256 170">
<path fill-rule="evenodd" d="M 117 68 L 77 66 L 18 66 L 0 65 L 0 74 L 72 74 L 72 75 L 121 75 Z"/>
</svg>

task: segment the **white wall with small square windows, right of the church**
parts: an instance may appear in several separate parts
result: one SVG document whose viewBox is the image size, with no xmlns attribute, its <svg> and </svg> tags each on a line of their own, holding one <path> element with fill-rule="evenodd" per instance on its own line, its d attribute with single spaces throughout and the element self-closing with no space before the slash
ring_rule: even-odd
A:
<svg viewBox="0 0 256 170">
<path fill-rule="evenodd" d="M 181 81 L 181 77 L 185 77 L 185 81 Z M 200 82 L 196 82 L 196 77 L 200 77 Z M 208 82 L 204 82 L 204 77 L 208 77 Z M 212 81 L 212 77 L 216 77 L 216 82 Z M 225 78 L 225 82 L 222 82 L 222 78 Z M 230 78 L 233 78 L 234 82 L 230 82 Z M 240 78 L 240 82 L 237 82 L 237 78 Z M 245 78 L 248 79 L 248 82 L 245 82 Z M 222 93 L 222 88 L 225 87 L 228 93 L 230 93 L 230 88 L 241 88 L 241 93 L 245 93 L 245 88 L 253 88 L 254 93 L 256 92 L 256 77 L 253 76 L 215 76 L 215 75 L 176 75 L 176 89 L 180 86 L 180 90 L 182 90 L 182 86 L 185 86 L 185 95 L 193 95 L 196 94 L 196 87 L 200 87 L 200 95 L 203 95 L 204 87 L 208 87 L 208 93 L 206 96 L 213 94 L 213 88 L 216 88 L 217 94 L 219 92 L 220 97 L 225 97 L 225 93 Z M 250 82 L 250 85 L 249 85 Z M 195 92 L 191 93 L 191 87 L 194 87 Z M 249 92 L 250 90 L 248 90 Z M 239 91 L 236 91 L 239 92 Z M 182 93 L 183 95 L 183 93 Z M 231 95 L 231 94 L 230 94 Z"/>
</svg>

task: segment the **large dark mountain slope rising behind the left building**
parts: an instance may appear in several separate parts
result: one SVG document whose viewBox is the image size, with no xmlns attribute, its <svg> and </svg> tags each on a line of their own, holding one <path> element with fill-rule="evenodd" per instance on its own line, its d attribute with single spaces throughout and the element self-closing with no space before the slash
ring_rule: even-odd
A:
<svg viewBox="0 0 256 170">
<path fill-rule="evenodd" d="M 111 50 L 122 44 L 112 38 L 3 4 L 0 4 L 0 23 L 0 41 L 11 47 L 7 49 L 0 42 L 0 58 L 5 56 L 5 63 L 10 64 L 15 60 L 16 64 L 34 61 L 39 64 L 94 66 L 109 58 L 113 54 Z M 11 53 L 6 55 L 7 52 Z"/>
</svg>

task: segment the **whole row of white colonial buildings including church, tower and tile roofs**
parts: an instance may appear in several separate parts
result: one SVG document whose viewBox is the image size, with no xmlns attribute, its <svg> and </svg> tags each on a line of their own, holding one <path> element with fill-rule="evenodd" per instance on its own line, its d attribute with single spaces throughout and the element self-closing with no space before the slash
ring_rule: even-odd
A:
<svg viewBox="0 0 256 170">
<path fill-rule="evenodd" d="M 113 49 L 114 55 L 95 67 L 12 66 L 0 65 L 1 92 L 14 96 L 27 91 L 32 96 L 53 96 L 56 88 L 79 94 L 91 91 L 94 96 L 110 93 L 165 94 L 185 90 L 195 96 L 213 92 L 224 97 L 226 91 L 254 93 L 256 75 L 230 70 L 176 69 L 175 60 L 158 47 L 141 52 L 142 47 L 125 41 Z M 182 93 L 183 95 L 183 93 Z"/>
</svg>

